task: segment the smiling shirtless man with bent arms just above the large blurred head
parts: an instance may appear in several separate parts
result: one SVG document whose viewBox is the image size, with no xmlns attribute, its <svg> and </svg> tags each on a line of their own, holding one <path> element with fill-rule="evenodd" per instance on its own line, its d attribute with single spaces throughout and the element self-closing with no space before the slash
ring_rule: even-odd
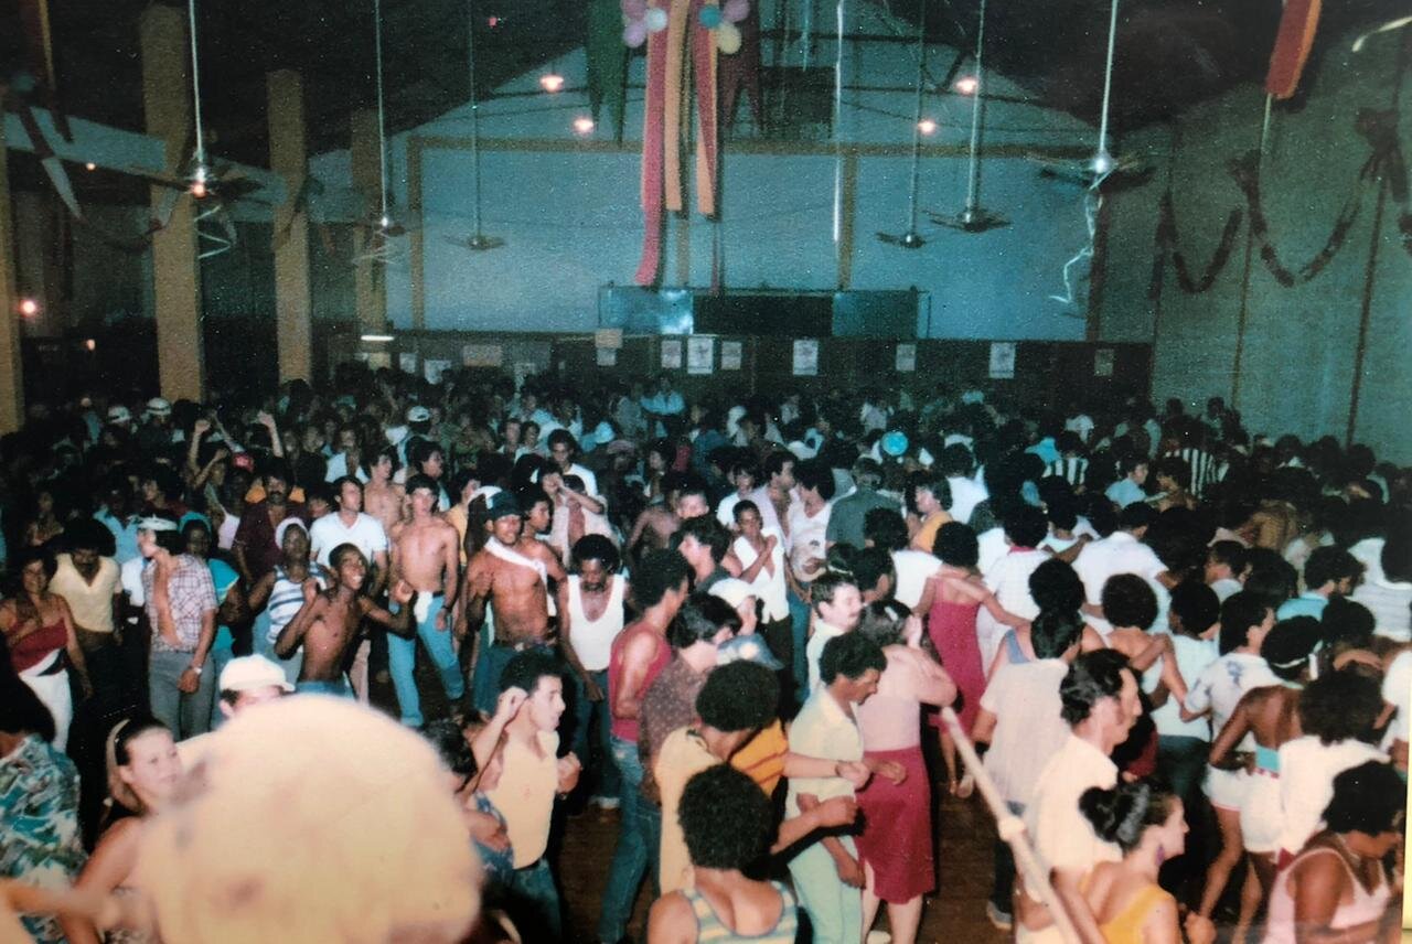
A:
<svg viewBox="0 0 1412 944">
<path fill-rule="evenodd" d="M 329 588 L 319 593 L 312 579 L 304 581 L 304 607 L 280 631 L 274 653 L 288 659 L 302 643 L 304 665 L 295 687 L 305 693 L 352 698 L 353 690 L 343 676 L 343 659 L 357 645 L 359 625 L 363 619 L 373 619 L 411 639 L 414 631 L 405 607 L 412 598 L 412 588 L 405 581 L 393 587 L 393 600 L 402 607 L 402 612 L 394 615 L 363 595 L 367 560 L 361 550 L 354 545 L 339 545 L 329 555 Z"/>
</svg>

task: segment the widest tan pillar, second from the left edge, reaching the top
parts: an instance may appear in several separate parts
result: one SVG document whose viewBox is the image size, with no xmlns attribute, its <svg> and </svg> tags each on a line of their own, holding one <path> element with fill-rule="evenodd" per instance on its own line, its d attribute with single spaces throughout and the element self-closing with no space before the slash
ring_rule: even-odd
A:
<svg viewBox="0 0 1412 944">
<path fill-rule="evenodd" d="M 179 171 L 189 157 L 186 147 L 192 130 L 186 13 L 152 4 L 138 20 L 138 31 L 147 131 L 167 143 L 167 169 Z M 152 209 L 160 212 L 171 190 L 165 186 L 151 190 Z M 196 202 L 191 196 L 176 200 L 171 220 L 152 236 L 152 281 L 162 397 L 201 401 L 206 391 L 206 357 L 201 330 Z"/>
</svg>

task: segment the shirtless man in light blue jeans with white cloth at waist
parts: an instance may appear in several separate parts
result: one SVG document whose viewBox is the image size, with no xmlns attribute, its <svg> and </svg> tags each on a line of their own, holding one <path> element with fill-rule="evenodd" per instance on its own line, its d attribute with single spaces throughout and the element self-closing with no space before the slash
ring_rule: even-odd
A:
<svg viewBox="0 0 1412 944">
<path fill-rule="evenodd" d="M 460 536 L 446 521 L 435 515 L 441 487 L 426 476 L 407 480 L 411 518 L 393 526 L 393 573 L 412 586 L 417 598 L 417 635 L 431 653 L 442 689 L 452 701 L 466 696 L 466 680 L 456 660 L 456 646 L 450 638 L 450 612 L 460 590 Z M 419 728 L 421 697 L 417 693 L 417 639 L 387 641 L 387 662 L 397 690 L 397 704 L 402 724 Z"/>
</svg>

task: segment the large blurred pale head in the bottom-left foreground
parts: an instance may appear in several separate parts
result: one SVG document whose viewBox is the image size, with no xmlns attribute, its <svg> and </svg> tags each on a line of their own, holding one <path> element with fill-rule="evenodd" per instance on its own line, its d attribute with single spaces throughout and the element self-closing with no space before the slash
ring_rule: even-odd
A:
<svg viewBox="0 0 1412 944">
<path fill-rule="evenodd" d="M 445 768 L 369 708 L 298 696 L 212 737 L 144 828 L 137 885 L 184 944 L 442 944 L 480 904 Z"/>
</svg>

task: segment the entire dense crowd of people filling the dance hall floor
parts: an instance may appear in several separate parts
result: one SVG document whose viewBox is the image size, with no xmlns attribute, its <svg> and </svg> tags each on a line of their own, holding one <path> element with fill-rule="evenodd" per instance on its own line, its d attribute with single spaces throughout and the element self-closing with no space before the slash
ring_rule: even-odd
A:
<svg viewBox="0 0 1412 944">
<path fill-rule="evenodd" d="M 34 405 L 0 463 L 17 940 L 911 944 L 977 785 L 1017 940 L 1399 931 L 1412 470 L 1364 446 L 349 364 Z"/>
</svg>

